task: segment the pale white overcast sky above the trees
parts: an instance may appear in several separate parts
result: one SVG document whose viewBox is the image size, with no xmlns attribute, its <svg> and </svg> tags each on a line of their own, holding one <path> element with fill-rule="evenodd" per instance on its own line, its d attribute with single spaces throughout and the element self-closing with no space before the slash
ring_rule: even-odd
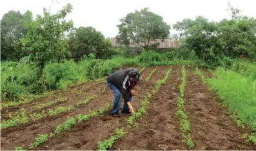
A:
<svg viewBox="0 0 256 151">
<path fill-rule="evenodd" d="M 57 3 L 58 2 L 58 3 Z M 168 24 L 182 21 L 184 18 L 194 19 L 202 15 L 210 21 L 220 21 L 229 18 L 226 12 L 228 0 L 54 0 L 51 13 L 57 12 L 67 3 L 74 6 L 74 10 L 67 19 L 74 21 L 74 26 L 93 26 L 101 31 L 105 37 L 115 37 L 118 33 L 119 19 L 129 12 L 148 7 L 150 11 L 161 15 Z M 1 1 L 0 17 L 9 10 L 32 11 L 42 14 L 43 8 L 49 8 L 52 0 L 7 0 Z M 256 17 L 256 0 L 230 0 L 235 8 L 242 10 L 242 15 Z"/>
</svg>

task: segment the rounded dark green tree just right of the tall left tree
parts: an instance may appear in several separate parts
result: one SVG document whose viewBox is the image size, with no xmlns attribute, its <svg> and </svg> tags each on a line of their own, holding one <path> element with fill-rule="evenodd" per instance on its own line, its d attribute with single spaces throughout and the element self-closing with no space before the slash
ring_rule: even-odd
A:
<svg viewBox="0 0 256 151">
<path fill-rule="evenodd" d="M 94 53 L 97 58 L 104 58 L 112 43 L 104 38 L 100 31 L 92 27 L 79 27 L 74 29 L 68 35 L 70 49 L 75 58 L 81 58 L 83 55 Z M 77 60 L 77 59 L 76 59 Z"/>
</svg>

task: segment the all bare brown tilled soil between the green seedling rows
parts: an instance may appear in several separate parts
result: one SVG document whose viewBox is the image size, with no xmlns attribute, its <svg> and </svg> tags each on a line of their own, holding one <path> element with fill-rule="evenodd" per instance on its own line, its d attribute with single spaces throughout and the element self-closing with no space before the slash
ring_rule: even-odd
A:
<svg viewBox="0 0 256 151">
<path fill-rule="evenodd" d="M 155 67 L 146 68 L 141 75 L 143 80 L 135 87 L 135 96 L 132 102 L 135 109 L 141 107 L 141 100 L 147 93 L 150 93 L 157 80 L 164 77 L 169 67 L 159 67 L 150 81 L 146 82 L 144 79 L 153 69 Z M 192 141 L 195 143 L 195 147 L 191 150 L 255 150 L 255 145 L 246 143 L 242 139 L 244 131 L 231 120 L 228 110 L 220 105 L 220 100 L 216 94 L 210 92 L 208 87 L 202 84 L 201 78 L 195 75 L 194 71 L 193 67 L 186 67 L 187 77 L 184 92 L 186 114 L 191 123 Z M 204 72 L 206 78 L 212 76 L 209 71 Z M 166 83 L 150 99 L 147 113 L 135 121 L 139 127 L 126 130 L 124 137 L 119 139 L 110 149 L 188 150 L 186 143 L 181 141 L 180 121 L 175 115 L 177 111 L 176 98 L 179 96 L 180 84 L 181 66 L 173 66 L 172 73 Z M 86 93 L 87 86 L 83 88 L 82 84 L 55 96 L 55 98 L 68 97 L 68 102 L 75 104 L 79 100 L 84 100 L 86 96 L 98 95 L 97 98 L 77 110 L 1 130 L 1 150 L 14 150 L 17 146 L 28 149 L 38 134 L 53 132 L 57 125 L 66 121 L 67 116 L 77 118 L 78 114 L 88 114 L 90 110 L 98 110 L 105 103 L 113 102 L 113 93 L 106 87 L 106 82 L 98 85 L 91 83 L 89 86 L 90 90 Z M 106 87 L 106 91 L 99 93 L 99 89 L 102 87 Z M 77 93 L 78 91 L 82 91 L 82 93 Z M 54 96 L 48 96 L 43 100 L 51 100 L 51 97 Z M 68 105 L 68 102 L 62 104 Z M 28 105 L 32 104 L 28 103 Z M 54 107 L 52 109 L 55 109 Z M 99 141 L 108 139 L 116 128 L 126 127 L 129 116 L 121 114 L 120 118 L 114 118 L 106 113 L 103 116 L 77 123 L 69 131 L 63 131 L 48 139 L 35 150 L 97 150 Z"/>
</svg>

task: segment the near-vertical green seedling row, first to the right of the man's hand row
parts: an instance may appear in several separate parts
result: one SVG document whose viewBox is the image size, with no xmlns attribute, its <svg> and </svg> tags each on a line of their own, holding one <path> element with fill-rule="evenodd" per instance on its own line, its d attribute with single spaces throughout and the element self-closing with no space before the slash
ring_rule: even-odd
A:
<svg viewBox="0 0 256 151">
<path fill-rule="evenodd" d="M 192 141 L 191 134 L 190 134 L 190 120 L 188 120 L 188 116 L 185 113 L 185 99 L 184 99 L 184 90 L 186 85 L 186 70 L 185 67 L 182 66 L 182 78 L 181 78 L 181 85 L 180 85 L 180 93 L 181 96 L 177 98 L 177 106 L 179 111 L 176 112 L 176 115 L 181 118 L 181 132 L 182 132 L 182 143 L 187 143 L 188 148 L 195 147 L 195 144 Z"/>
</svg>

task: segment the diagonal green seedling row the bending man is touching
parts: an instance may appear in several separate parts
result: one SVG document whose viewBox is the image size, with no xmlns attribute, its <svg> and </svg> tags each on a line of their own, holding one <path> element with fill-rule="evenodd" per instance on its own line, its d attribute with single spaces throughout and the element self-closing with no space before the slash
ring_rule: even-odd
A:
<svg viewBox="0 0 256 151">
<path fill-rule="evenodd" d="M 155 69 L 156 71 L 156 69 Z M 126 129 L 130 129 L 131 126 L 133 125 L 133 121 L 141 118 L 141 116 L 143 116 L 143 114 L 146 113 L 146 107 L 148 106 L 148 104 L 150 103 L 150 98 L 152 98 L 152 95 L 157 93 L 159 91 L 159 88 L 161 87 L 162 84 L 164 84 L 167 80 L 167 78 L 170 76 L 170 73 L 172 72 L 172 67 L 166 72 L 166 75 L 164 76 L 164 78 L 162 78 L 161 80 L 157 81 L 157 84 L 155 85 L 155 87 L 153 87 L 152 92 L 146 94 L 146 96 L 144 97 L 144 99 L 141 102 L 141 108 L 137 111 L 135 111 L 132 116 L 130 116 L 130 118 L 128 118 L 128 124 Z M 138 125 L 136 124 L 136 127 L 138 127 Z M 106 139 L 104 141 L 99 141 L 98 143 L 98 150 L 108 150 L 109 148 L 112 147 L 113 143 L 115 143 L 115 141 L 117 141 L 117 139 L 120 139 L 124 136 L 125 132 L 124 132 L 124 128 L 123 129 L 116 129 L 115 130 L 115 134 L 113 134 L 112 136 L 110 136 L 109 139 Z"/>
</svg>

